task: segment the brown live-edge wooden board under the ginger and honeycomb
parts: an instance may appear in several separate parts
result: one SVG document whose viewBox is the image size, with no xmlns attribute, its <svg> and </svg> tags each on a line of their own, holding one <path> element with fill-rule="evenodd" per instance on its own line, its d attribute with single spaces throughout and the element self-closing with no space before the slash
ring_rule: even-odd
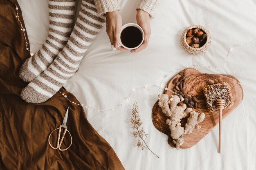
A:
<svg viewBox="0 0 256 170">
<path fill-rule="evenodd" d="M 198 103 L 201 105 L 201 108 L 193 108 L 193 110 L 204 113 L 205 118 L 199 125 L 201 126 L 200 130 L 193 130 L 192 134 L 184 135 L 185 143 L 180 146 L 180 148 L 190 148 L 198 143 L 207 133 L 218 124 L 219 122 L 219 114 L 218 111 L 209 113 L 206 107 L 205 98 L 203 95 L 203 88 L 207 85 L 217 84 L 220 82 L 228 82 L 231 87 L 231 93 L 234 100 L 234 105 L 231 108 L 227 108 L 222 110 L 222 119 L 225 118 L 234 108 L 236 108 L 240 102 L 243 100 L 243 89 L 238 81 L 233 76 L 230 75 L 217 75 L 217 74 L 205 74 L 200 73 L 199 71 L 195 70 L 194 68 L 187 68 L 177 75 L 175 75 L 170 81 L 167 83 L 166 87 L 168 90 L 173 91 L 175 85 L 173 84 L 173 80 L 175 78 L 180 78 L 182 76 L 187 77 L 182 81 L 183 84 L 183 91 L 186 93 L 187 96 L 198 96 Z M 164 94 L 168 94 L 169 97 L 174 95 L 170 91 L 164 90 Z M 152 121 L 154 126 L 164 134 L 168 135 L 168 144 L 175 148 L 175 144 L 173 144 L 173 139 L 170 137 L 170 130 L 166 122 L 166 115 L 162 113 L 161 108 L 158 106 L 158 101 L 155 103 L 153 110 L 152 110 Z M 181 120 L 181 124 L 184 127 L 186 124 L 186 118 Z"/>
</svg>

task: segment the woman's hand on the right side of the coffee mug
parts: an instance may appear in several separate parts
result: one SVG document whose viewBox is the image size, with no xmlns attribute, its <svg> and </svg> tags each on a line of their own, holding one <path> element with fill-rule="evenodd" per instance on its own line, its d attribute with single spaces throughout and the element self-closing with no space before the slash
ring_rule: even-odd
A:
<svg viewBox="0 0 256 170">
<path fill-rule="evenodd" d="M 150 23 L 149 23 L 149 14 L 141 9 L 138 9 L 137 15 L 136 15 L 137 24 L 141 26 L 141 28 L 144 31 L 144 42 L 139 46 L 139 48 L 135 50 L 131 50 L 131 53 L 139 52 L 148 46 L 149 37 L 151 34 L 150 30 Z"/>
</svg>

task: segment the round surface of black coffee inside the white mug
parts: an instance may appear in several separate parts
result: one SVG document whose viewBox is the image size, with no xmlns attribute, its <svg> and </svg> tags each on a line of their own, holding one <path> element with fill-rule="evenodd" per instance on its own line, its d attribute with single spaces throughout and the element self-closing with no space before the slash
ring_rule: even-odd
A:
<svg viewBox="0 0 256 170">
<path fill-rule="evenodd" d="M 121 32 L 121 42 L 128 48 L 138 46 L 142 41 L 142 33 L 135 26 L 127 26 Z"/>
</svg>

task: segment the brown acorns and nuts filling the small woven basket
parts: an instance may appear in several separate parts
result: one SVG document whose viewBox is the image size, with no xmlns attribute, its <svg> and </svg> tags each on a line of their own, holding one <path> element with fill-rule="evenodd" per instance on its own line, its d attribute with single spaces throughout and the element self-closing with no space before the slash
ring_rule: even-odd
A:
<svg viewBox="0 0 256 170">
<path fill-rule="evenodd" d="M 186 43 L 193 48 L 200 48 L 205 44 L 207 35 L 199 28 L 189 29 L 186 33 Z"/>
</svg>

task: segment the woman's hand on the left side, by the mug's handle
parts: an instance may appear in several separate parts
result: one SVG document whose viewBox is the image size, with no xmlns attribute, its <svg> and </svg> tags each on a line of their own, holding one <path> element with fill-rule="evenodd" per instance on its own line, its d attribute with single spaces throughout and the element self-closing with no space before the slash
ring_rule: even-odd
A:
<svg viewBox="0 0 256 170">
<path fill-rule="evenodd" d="M 107 33 L 110 39 L 111 45 L 114 44 L 114 47 L 121 51 L 126 51 L 122 46 L 119 46 L 119 34 L 122 27 L 122 18 L 119 11 L 112 11 L 106 13 L 106 22 L 107 22 Z"/>
</svg>

